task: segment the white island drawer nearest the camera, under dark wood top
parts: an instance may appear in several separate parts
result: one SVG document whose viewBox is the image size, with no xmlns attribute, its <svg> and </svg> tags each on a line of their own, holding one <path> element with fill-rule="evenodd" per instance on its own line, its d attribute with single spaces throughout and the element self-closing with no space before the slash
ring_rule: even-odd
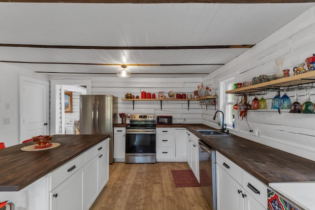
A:
<svg viewBox="0 0 315 210">
<path fill-rule="evenodd" d="M 65 163 L 55 171 L 49 174 L 50 184 L 49 191 L 53 190 L 59 184 L 61 184 L 68 177 L 73 175 L 76 171 L 82 168 L 85 164 L 85 153 L 75 157 L 69 162 Z"/>
</svg>

